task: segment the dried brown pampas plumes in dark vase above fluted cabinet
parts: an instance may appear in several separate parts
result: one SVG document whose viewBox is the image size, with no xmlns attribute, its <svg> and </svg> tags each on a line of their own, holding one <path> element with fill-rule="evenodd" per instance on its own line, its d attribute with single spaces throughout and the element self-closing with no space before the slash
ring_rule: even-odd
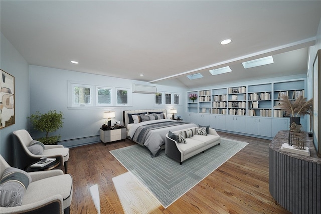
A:
<svg viewBox="0 0 321 214">
<path fill-rule="evenodd" d="M 280 107 L 285 111 L 286 116 L 290 116 L 290 124 L 295 122 L 297 125 L 300 125 L 300 117 L 298 116 L 309 114 L 312 106 L 312 99 L 306 101 L 306 98 L 299 96 L 295 101 L 291 101 L 286 95 L 283 95 L 281 99 Z"/>
</svg>

